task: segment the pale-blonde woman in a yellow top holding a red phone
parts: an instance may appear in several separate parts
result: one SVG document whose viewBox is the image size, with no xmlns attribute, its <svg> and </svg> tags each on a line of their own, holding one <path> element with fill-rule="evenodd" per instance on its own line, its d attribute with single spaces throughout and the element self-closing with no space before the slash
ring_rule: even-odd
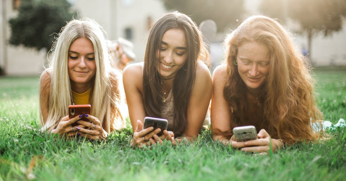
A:
<svg viewBox="0 0 346 181">
<path fill-rule="evenodd" d="M 95 21 L 73 19 L 62 28 L 52 58 L 39 84 L 40 123 L 48 133 L 104 140 L 125 127 L 119 107 L 124 102 L 121 73 L 111 66 L 104 37 Z M 69 119 L 68 106 L 90 104 L 92 115 Z M 79 120 L 85 116 L 90 122 Z M 78 121 L 78 126 L 71 124 Z"/>
</svg>

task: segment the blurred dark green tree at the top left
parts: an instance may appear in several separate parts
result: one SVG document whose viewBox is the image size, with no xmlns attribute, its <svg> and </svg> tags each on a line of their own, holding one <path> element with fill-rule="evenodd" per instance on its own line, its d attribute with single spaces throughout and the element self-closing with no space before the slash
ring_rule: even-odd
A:
<svg viewBox="0 0 346 181">
<path fill-rule="evenodd" d="M 70 4 L 66 0 L 21 0 L 18 16 L 11 18 L 12 45 L 49 51 L 66 21 L 72 19 Z"/>
</svg>

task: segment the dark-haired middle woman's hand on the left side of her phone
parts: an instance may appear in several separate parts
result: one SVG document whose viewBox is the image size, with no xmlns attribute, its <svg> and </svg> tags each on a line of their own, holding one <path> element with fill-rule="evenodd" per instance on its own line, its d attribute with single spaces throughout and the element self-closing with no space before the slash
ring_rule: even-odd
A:
<svg viewBox="0 0 346 181">
<path fill-rule="evenodd" d="M 154 127 L 152 126 L 149 128 L 143 129 L 142 121 L 137 120 L 137 129 L 133 133 L 133 137 L 130 141 L 130 144 L 133 147 L 138 146 L 139 148 L 143 146 L 149 146 L 149 145 L 155 144 L 156 142 L 153 140 L 153 136 L 159 133 L 161 129 L 157 128 L 154 131 L 153 130 L 154 130 Z"/>
</svg>

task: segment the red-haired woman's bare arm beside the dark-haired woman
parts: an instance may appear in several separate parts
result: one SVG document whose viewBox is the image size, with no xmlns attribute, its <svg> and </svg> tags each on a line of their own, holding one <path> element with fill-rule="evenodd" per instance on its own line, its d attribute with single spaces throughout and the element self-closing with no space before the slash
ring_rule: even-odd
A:
<svg viewBox="0 0 346 181">
<path fill-rule="evenodd" d="M 224 98 L 224 87 L 227 81 L 226 65 L 218 66 L 213 72 L 213 92 L 211 96 L 211 130 L 213 131 L 213 139 L 219 140 L 224 144 L 229 143 L 229 139 L 215 133 L 215 130 L 229 131 L 231 130 L 231 119 L 229 114 L 229 106 Z"/>
</svg>

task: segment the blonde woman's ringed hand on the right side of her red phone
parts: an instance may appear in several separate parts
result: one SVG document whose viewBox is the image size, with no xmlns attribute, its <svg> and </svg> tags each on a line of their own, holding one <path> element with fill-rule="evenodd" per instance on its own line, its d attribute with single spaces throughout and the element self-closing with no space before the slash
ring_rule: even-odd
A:
<svg viewBox="0 0 346 181">
<path fill-rule="evenodd" d="M 108 137 L 108 133 L 102 128 L 100 120 L 89 114 L 85 114 L 84 116 L 90 122 L 80 120 L 78 122 L 80 125 L 74 127 L 77 135 L 93 140 L 105 140 Z"/>
</svg>

